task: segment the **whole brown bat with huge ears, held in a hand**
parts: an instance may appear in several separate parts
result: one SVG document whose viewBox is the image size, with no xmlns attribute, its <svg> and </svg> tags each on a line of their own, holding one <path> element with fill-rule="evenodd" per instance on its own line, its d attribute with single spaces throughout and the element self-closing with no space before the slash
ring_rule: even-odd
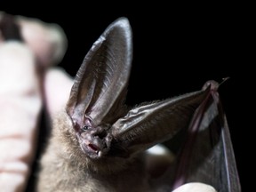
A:
<svg viewBox="0 0 256 192">
<path fill-rule="evenodd" d="M 36 191 L 172 191 L 188 182 L 241 191 L 219 84 L 131 108 L 131 68 L 132 28 L 119 18 L 85 55 L 66 108 L 53 119 Z M 147 149 L 159 143 L 177 153 L 156 178 Z"/>
</svg>

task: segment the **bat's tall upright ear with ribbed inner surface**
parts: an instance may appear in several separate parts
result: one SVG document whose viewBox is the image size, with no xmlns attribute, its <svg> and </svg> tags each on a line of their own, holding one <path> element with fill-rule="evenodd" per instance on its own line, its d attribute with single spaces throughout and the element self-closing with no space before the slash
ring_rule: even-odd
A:
<svg viewBox="0 0 256 192">
<path fill-rule="evenodd" d="M 76 121 L 111 123 L 126 96 L 132 63 L 132 30 L 126 18 L 111 23 L 79 68 L 67 104 Z M 116 120 L 116 119 L 115 119 Z"/>
</svg>

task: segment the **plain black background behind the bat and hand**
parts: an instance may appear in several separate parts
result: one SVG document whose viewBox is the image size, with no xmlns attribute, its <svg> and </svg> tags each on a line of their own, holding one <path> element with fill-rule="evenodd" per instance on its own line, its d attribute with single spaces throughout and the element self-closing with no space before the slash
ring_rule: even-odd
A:
<svg viewBox="0 0 256 192">
<path fill-rule="evenodd" d="M 130 20 L 133 31 L 133 64 L 127 103 L 162 100 L 201 89 L 210 79 L 221 82 L 220 99 L 226 112 L 241 185 L 250 150 L 245 140 L 253 91 L 250 12 L 239 4 L 138 4 L 109 9 L 104 4 L 63 9 L 34 4 L 29 10 L 1 7 L 2 11 L 58 23 L 68 36 L 68 50 L 60 63 L 71 76 L 103 30 L 118 17 Z M 234 6 L 233 6 L 234 5 Z M 80 8 L 80 9 L 78 9 Z M 40 9 L 40 10 L 39 10 Z M 255 46 L 255 45 L 254 45 Z M 249 46 L 250 47 L 250 46 Z M 255 60 L 254 60 L 255 64 Z M 249 104 L 250 103 L 250 104 Z M 252 113 L 253 114 L 253 113 Z M 251 126 L 251 129 L 250 129 Z M 246 138 L 245 138 L 246 136 Z M 252 145 L 251 145 L 252 146 Z M 249 151 L 249 152 L 248 152 Z"/>
</svg>

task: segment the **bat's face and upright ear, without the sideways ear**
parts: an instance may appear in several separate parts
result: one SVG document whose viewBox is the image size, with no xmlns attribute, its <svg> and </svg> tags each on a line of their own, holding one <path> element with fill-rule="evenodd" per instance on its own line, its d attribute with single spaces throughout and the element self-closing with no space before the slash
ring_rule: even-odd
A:
<svg viewBox="0 0 256 192">
<path fill-rule="evenodd" d="M 114 21 L 92 45 L 76 74 L 67 112 L 82 150 L 91 158 L 108 154 L 112 124 L 124 114 L 131 39 L 129 21 Z"/>
</svg>

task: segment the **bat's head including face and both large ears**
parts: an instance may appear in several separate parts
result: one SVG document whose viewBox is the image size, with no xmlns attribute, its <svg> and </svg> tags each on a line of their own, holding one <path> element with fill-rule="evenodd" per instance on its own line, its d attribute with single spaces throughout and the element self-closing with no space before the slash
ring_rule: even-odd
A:
<svg viewBox="0 0 256 192">
<path fill-rule="evenodd" d="M 124 100 L 131 66 L 132 30 L 126 18 L 119 18 L 85 56 L 66 108 L 85 156 L 126 158 L 170 139 L 188 126 L 207 92 L 128 110 Z"/>
</svg>

